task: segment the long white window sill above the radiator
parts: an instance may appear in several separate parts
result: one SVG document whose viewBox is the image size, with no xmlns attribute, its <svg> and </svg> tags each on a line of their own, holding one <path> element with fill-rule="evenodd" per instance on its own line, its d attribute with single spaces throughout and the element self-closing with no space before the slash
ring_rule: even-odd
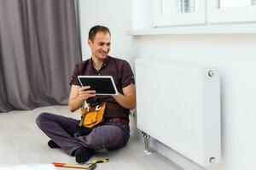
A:
<svg viewBox="0 0 256 170">
<path fill-rule="evenodd" d="M 178 26 L 126 31 L 128 36 L 172 35 L 172 34 L 254 34 L 256 24 L 218 26 Z"/>
</svg>

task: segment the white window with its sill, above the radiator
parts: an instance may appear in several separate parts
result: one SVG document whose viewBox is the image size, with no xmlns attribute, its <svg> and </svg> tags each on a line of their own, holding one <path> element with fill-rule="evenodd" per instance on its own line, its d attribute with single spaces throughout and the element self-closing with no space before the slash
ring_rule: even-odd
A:
<svg viewBox="0 0 256 170">
<path fill-rule="evenodd" d="M 256 33 L 256 0 L 131 0 L 128 35 Z"/>
</svg>

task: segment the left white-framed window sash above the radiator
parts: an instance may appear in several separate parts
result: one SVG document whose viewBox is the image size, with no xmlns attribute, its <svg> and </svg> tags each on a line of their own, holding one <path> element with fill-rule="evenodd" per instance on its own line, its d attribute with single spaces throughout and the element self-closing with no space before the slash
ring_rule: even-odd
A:
<svg viewBox="0 0 256 170">
<path fill-rule="evenodd" d="M 154 26 L 202 24 L 205 11 L 204 0 L 154 0 Z"/>
</svg>

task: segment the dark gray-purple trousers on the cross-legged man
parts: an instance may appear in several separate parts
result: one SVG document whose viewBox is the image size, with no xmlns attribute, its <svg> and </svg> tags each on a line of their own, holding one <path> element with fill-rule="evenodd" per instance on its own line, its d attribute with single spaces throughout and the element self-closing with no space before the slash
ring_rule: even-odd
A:
<svg viewBox="0 0 256 170">
<path fill-rule="evenodd" d="M 117 149 L 130 137 L 129 126 L 119 122 L 103 122 L 94 128 L 79 127 L 79 120 L 45 112 L 38 116 L 37 125 L 68 155 L 82 146 L 91 150 Z"/>
</svg>

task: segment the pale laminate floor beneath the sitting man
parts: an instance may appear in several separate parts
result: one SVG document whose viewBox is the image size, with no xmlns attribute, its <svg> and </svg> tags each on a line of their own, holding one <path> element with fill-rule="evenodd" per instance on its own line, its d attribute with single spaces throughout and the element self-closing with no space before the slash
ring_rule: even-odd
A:
<svg viewBox="0 0 256 170">
<path fill-rule="evenodd" d="M 79 118 L 79 113 L 69 112 L 66 105 L 39 107 L 32 111 L 0 113 L 0 164 L 50 162 L 76 164 L 73 156 L 68 156 L 61 149 L 50 149 L 48 147 L 48 137 L 38 129 L 35 123 L 36 117 L 41 112 L 52 112 L 63 116 Z M 143 149 L 143 142 L 131 136 L 131 139 L 124 148 L 96 153 L 90 160 L 109 159 L 107 163 L 98 164 L 96 167 L 98 170 L 182 169 L 154 150 L 152 150 L 151 155 L 146 155 Z"/>
</svg>

